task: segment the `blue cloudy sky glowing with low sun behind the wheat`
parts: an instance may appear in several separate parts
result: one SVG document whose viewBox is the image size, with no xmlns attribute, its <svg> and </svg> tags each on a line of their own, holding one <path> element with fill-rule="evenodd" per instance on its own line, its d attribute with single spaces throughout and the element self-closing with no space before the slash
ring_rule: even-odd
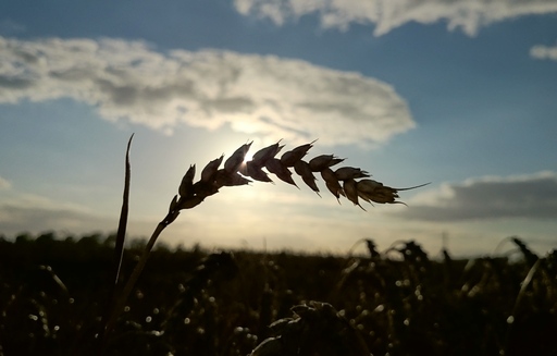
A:
<svg viewBox="0 0 557 356">
<path fill-rule="evenodd" d="M 224 187 L 171 246 L 434 257 L 557 248 L 557 0 L 0 3 L 0 234 L 110 233 L 131 149 L 128 234 L 147 237 L 190 164 L 317 142 L 405 205 Z M 196 177 L 198 180 L 199 176 Z"/>
</svg>

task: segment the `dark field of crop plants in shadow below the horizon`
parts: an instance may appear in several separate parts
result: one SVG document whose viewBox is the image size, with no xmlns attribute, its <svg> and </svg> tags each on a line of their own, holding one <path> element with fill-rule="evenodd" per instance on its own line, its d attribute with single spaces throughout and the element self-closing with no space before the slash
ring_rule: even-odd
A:
<svg viewBox="0 0 557 356">
<path fill-rule="evenodd" d="M 98 354 L 114 241 L 0 237 L 0 355 Z M 470 260 L 159 246 L 104 355 L 557 355 L 557 251 L 511 241 L 513 259 Z"/>
</svg>

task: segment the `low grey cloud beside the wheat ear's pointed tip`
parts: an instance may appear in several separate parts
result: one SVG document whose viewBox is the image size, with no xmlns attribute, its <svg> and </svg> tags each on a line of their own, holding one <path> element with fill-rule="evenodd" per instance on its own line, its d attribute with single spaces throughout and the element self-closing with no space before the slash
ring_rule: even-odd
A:
<svg viewBox="0 0 557 356">
<path fill-rule="evenodd" d="M 557 173 L 516 177 L 484 177 L 445 184 L 408 201 L 398 217 L 424 221 L 467 221 L 499 218 L 555 219 Z"/>
</svg>

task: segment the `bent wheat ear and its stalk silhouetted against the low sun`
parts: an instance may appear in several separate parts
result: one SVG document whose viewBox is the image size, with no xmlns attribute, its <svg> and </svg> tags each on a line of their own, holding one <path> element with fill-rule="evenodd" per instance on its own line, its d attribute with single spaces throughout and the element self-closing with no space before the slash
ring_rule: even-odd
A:
<svg viewBox="0 0 557 356">
<path fill-rule="evenodd" d="M 252 142 L 242 145 L 224 161 L 223 168 L 221 168 L 221 164 L 223 163 L 224 155 L 210 161 L 202 169 L 200 179 L 196 183 L 194 183 L 196 165 L 190 165 L 182 179 L 178 187 L 178 194 L 176 194 L 170 202 L 168 214 L 154 229 L 141 257 L 139 258 L 139 261 L 124 285 L 122 293 L 114 302 L 114 306 L 109 312 L 110 317 L 103 326 L 103 330 L 101 330 L 100 339 L 106 339 L 113 328 L 117 316 L 124 309 L 125 303 L 162 231 L 176 220 L 182 210 L 195 208 L 207 197 L 219 193 L 222 187 L 246 185 L 251 183 L 251 180 L 259 182 L 273 182 L 269 176 L 270 173 L 274 174 L 278 180 L 285 183 L 297 186 L 296 182 L 292 177 L 292 170 L 294 170 L 294 172 L 301 177 L 304 183 L 319 195 L 320 191 L 315 183 L 317 177 L 314 173 L 320 173 L 327 189 L 337 198 L 338 201 L 341 201 L 341 196 L 343 196 L 350 200 L 355 206 L 359 206 L 363 209 L 360 205 L 360 199 L 370 204 L 404 204 L 396 200 L 399 198 L 399 191 L 413 189 L 425 185 L 422 184 L 408 188 L 393 188 L 369 179 L 370 174 L 359 168 L 341 167 L 333 170 L 334 165 L 344 161 L 344 159 L 335 157 L 334 155 L 321 155 L 306 161 L 304 158 L 308 154 L 309 149 L 313 147 L 313 143 L 314 142 L 298 146 L 284 152 L 280 158 L 276 158 L 278 152 L 284 148 L 284 145 L 280 145 L 281 142 L 278 142 L 260 149 L 252 156 L 252 159 L 247 162 L 245 161 L 245 158 Z M 126 164 L 128 164 L 127 158 Z M 263 169 L 267 170 L 267 172 Z M 129 168 L 126 165 L 126 172 L 128 172 L 128 170 Z M 124 200 L 127 200 L 126 196 Z M 123 210 L 122 213 L 127 214 L 127 209 L 125 212 Z M 121 217 L 121 223 L 122 221 L 125 221 L 125 219 L 122 219 Z"/>
</svg>

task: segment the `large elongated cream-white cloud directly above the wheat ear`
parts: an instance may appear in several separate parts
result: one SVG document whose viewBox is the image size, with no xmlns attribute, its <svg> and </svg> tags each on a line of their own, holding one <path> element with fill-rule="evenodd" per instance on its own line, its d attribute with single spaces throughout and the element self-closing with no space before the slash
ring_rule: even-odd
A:
<svg viewBox="0 0 557 356">
<path fill-rule="evenodd" d="M 107 120 L 172 133 L 185 123 L 272 139 L 373 145 L 414 126 L 394 88 L 273 56 L 174 50 L 117 39 L 0 37 L 0 103 L 72 98 Z"/>
</svg>

